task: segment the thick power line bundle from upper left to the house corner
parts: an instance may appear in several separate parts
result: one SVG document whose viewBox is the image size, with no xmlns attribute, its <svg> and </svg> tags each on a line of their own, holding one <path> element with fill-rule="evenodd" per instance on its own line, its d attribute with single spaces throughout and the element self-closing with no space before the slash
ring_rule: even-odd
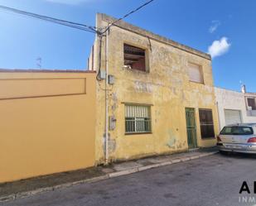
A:
<svg viewBox="0 0 256 206">
<path fill-rule="evenodd" d="M 15 13 L 25 15 L 25 16 L 28 16 L 28 17 L 34 17 L 34 18 L 41 19 L 41 20 L 44 20 L 44 21 L 47 21 L 47 22 L 53 22 L 53 23 L 60 24 L 60 25 L 63 25 L 63 26 L 70 26 L 70 27 L 73 27 L 75 29 L 79 29 L 79 30 L 82 30 L 82 31 L 89 31 L 89 32 L 93 32 L 93 33 L 98 33 L 99 32 L 99 31 L 97 31 L 97 28 L 95 26 L 88 26 L 88 25 L 85 25 L 85 24 L 65 21 L 65 20 L 62 20 L 62 19 L 54 18 L 54 17 L 47 17 L 47 16 L 36 14 L 36 13 L 32 13 L 32 12 L 26 12 L 26 11 L 18 10 L 16 8 L 12 8 L 12 7 L 5 7 L 5 6 L 2 6 L 2 5 L 0 5 L 0 9 L 6 10 L 6 11 L 9 11 L 9 12 L 15 12 Z"/>
</svg>

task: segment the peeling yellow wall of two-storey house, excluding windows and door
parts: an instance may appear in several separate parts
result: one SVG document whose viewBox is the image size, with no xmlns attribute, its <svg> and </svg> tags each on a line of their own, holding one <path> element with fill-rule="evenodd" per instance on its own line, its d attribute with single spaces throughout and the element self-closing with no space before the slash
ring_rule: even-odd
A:
<svg viewBox="0 0 256 206">
<path fill-rule="evenodd" d="M 107 26 L 111 17 L 98 15 L 97 26 Z M 121 27 L 126 27 L 123 29 Z M 142 35 L 144 36 L 142 36 Z M 149 36 L 149 37 L 147 37 Z M 144 48 L 149 72 L 123 68 L 123 44 Z M 172 44 L 172 45 L 171 45 Z M 95 44 L 99 52 L 99 36 Z M 105 38 L 102 47 L 102 68 L 105 69 Z M 173 41 L 119 22 L 109 33 L 109 74 L 115 78 L 109 85 L 109 116 L 116 117 L 116 128 L 109 131 L 110 160 L 127 160 L 141 156 L 186 151 L 185 108 L 196 108 L 198 146 L 214 146 L 215 137 L 202 140 L 198 108 L 213 111 L 215 133 L 218 116 L 215 105 L 210 56 Z M 98 60 L 95 59 L 94 62 Z M 202 66 L 205 84 L 189 80 L 189 62 Z M 96 65 L 99 64 L 99 61 Z M 98 68 L 99 69 L 99 68 Z M 104 80 L 97 84 L 96 160 L 104 161 Z M 152 133 L 125 135 L 124 103 L 146 103 L 152 107 Z"/>
</svg>

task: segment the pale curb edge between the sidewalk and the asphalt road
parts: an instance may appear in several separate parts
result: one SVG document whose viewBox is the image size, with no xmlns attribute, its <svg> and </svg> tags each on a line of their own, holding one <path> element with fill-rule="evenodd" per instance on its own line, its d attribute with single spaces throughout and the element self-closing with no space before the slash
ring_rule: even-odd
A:
<svg viewBox="0 0 256 206">
<path fill-rule="evenodd" d="M 59 184 L 59 185 L 55 185 L 55 186 L 52 186 L 52 187 L 35 189 L 35 190 L 22 192 L 22 193 L 17 193 L 17 194 L 10 194 L 10 195 L 7 195 L 7 196 L 0 197 L 0 203 L 12 201 L 12 200 L 15 200 L 15 199 L 22 199 L 22 198 L 26 198 L 26 197 L 29 197 L 29 196 L 32 196 L 32 195 L 35 195 L 35 194 L 41 194 L 41 193 L 44 193 L 44 192 L 50 192 L 50 191 L 54 191 L 56 189 L 69 188 L 69 187 L 77 185 L 77 184 L 93 183 L 93 182 L 98 182 L 100 180 L 108 180 L 108 179 L 111 179 L 111 178 L 115 178 L 115 177 L 123 176 L 123 175 L 129 175 L 129 174 L 133 174 L 133 173 L 140 172 L 140 171 L 143 171 L 143 170 L 150 170 L 150 169 L 161 167 L 161 166 L 172 165 L 172 164 L 176 164 L 176 163 L 179 163 L 179 162 L 185 162 L 185 161 L 189 161 L 189 160 L 195 160 L 195 159 L 198 159 L 200 157 L 215 155 L 218 152 L 219 151 L 212 151 L 212 152 L 207 152 L 205 154 L 201 154 L 201 155 L 198 155 L 198 156 L 189 156 L 189 157 L 185 156 L 185 157 L 180 158 L 180 159 L 167 160 L 167 161 L 164 161 L 162 163 L 146 165 L 146 166 L 138 166 L 138 167 L 135 167 L 133 169 L 128 169 L 128 170 L 115 171 L 115 172 L 109 173 L 107 175 L 101 175 L 101 176 L 94 177 L 94 178 L 91 178 L 91 179 L 80 180 L 80 181 L 75 181 L 75 182 L 66 183 L 66 184 Z"/>
</svg>

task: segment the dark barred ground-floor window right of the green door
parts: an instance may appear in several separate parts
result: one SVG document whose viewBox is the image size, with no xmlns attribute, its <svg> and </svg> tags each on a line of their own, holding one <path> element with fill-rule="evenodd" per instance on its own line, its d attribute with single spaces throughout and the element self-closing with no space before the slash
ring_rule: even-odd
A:
<svg viewBox="0 0 256 206">
<path fill-rule="evenodd" d="M 199 109 L 201 138 L 215 137 L 215 127 L 211 109 Z"/>
</svg>

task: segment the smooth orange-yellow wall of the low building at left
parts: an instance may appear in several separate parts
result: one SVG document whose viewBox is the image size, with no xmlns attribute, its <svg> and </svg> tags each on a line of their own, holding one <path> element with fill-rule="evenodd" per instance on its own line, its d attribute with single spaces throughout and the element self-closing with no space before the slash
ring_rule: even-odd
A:
<svg viewBox="0 0 256 206">
<path fill-rule="evenodd" d="M 94 165 L 95 74 L 0 72 L 0 182 Z"/>
</svg>

